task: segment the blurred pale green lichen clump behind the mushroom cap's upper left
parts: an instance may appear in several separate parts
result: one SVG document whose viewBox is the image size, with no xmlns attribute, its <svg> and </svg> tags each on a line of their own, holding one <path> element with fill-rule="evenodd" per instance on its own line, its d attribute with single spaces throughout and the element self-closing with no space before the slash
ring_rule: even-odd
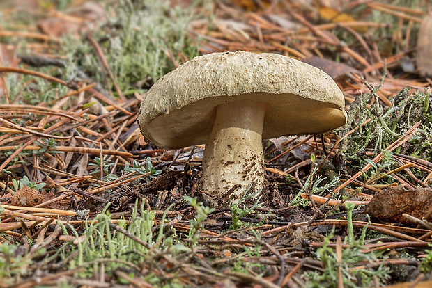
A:
<svg viewBox="0 0 432 288">
<path fill-rule="evenodd" d="M 95 29 L 107 62 L 123 93 L 143 92 L 181 61 L 180 55 L 199 55 L 198 42 L 189 37 L 187 26 L 201 15 L 193 13 L 194 5 L 174 8 L 167 1 L 121 0 L 116 13 L 107 13 L 107 22 Z M 105 73 L 98 65 L 98 56 L 86 42 L 66 40 L 69 55 L 69 77 L 84 72 L 98 83 L 106 83 Z"/>
</svg>

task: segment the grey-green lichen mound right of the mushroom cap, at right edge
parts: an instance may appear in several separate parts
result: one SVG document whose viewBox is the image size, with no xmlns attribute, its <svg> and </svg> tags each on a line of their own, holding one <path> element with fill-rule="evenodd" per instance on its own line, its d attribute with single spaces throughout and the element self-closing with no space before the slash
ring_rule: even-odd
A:
<svg viewBox="0 0 432 288">
<path fill-rule="evenodd" d="M 398 147 L 392 153 L 399 154 L 402 149 L 406 149 L 404 154 L 429 161 L 432 155 L 432 142 L 430 140 L 432 138 L 431 90 L 425 88 L 423 91 L 410 94 L 410 88 L 404 88 L 392 98 L 391 107 L 372 105 L 369 108 L 367 104 L 373 96 L 373 93 L 362 94 L 351 105 L 348 113 L 348 121 L 343 133 L 359 127 L 357 131 L 354 131 L 341 142 L 341 153 L 344 153 L 350 162 L 350 168 L 360 170 L 364 163 L 370 163 L 359 152 L 385 150 L 419 121 L 422 121 L 422 124 L 416 133 L 410 137 L 410 145 L 406 148 Z M 360 126 L 360 123 L 369 118 L 371 119 L 369 123 Z M 387 156 L 384 162 L 391 161 L 391 154 L 388 153 Z M 370 164 L 372 165 L 372 163 Z M 381 169 L 383 168 L 385 167 Z M 378 169 L 380 166 L 376 166 L 375 170 Z M 415 173 L 419 172 L 415 171 Z M 418 176 L 421 178 L 421 175 Z"/>
</svg>

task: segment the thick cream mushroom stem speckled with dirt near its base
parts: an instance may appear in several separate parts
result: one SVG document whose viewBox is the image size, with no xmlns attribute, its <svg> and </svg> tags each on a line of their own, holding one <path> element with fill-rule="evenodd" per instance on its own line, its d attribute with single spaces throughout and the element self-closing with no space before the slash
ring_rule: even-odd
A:
<svg viewBox="0 0 432 288">
<path fill-rule="evenodd" d="M 247 100 L 217 106 L 203 157 L 202 189 L 207 193 L 208 205 L 224 206 L 217 198 L 238 200 L 252 183 L 256 189 L 263 188 L 261 134 L 265 108 L 262 102 Z"/>
</svg>

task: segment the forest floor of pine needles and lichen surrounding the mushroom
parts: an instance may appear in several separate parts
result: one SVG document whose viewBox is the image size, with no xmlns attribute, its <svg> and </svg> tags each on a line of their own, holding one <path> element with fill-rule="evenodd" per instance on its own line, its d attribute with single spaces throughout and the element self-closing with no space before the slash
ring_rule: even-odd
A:
<svg viewBox="0 0 432 288">
<path fill-rule="evenodd" d="M 370 287 L 431 277 L 429 32 L 420 26 L 429 6 L 30 2 L 1 7 L 0 287 Z M 153 147 L 136 113 L 180 63 L 237 49 L 327 71 L 348 123 L 264 141 L 271 198 L 215 210 L 199 202 L 203 145 Z"/>
</svg>

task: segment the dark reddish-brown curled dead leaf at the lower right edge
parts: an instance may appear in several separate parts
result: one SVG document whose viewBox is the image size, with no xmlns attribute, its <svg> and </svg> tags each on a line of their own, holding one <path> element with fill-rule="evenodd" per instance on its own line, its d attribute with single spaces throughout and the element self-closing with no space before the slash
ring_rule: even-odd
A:
<svg viewBox="0 0 432 288">
<path fill-rule="evenodd" d="M 364 211 L 383 221 L 410 223 L 402 214 L 422 219 L 432 207 L 432 189 L 405 190 L 403 186 L 390 187 L 373 196 Z"/>
</svg>

